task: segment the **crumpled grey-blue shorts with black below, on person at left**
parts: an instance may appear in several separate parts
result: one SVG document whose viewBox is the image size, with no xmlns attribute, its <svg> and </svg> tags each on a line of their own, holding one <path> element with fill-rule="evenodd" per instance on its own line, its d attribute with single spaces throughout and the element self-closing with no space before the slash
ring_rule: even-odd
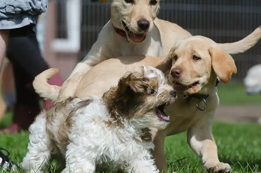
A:
<svg viewBox="0 0 261 173">
<path fill-rule="evenodd" d="M 47 4 L 48 0 L 0 0 L 0 29 L 10 29 L 10 37 L 36 33 L 37 16 Z"/>
</svg>

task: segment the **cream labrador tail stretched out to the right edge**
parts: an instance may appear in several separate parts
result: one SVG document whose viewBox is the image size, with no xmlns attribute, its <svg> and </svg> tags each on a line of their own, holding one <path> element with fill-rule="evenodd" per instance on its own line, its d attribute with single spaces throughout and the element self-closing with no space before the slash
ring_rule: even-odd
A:
<svg viewBox="0 0 261 173">
<path fill-rule="evenodd" d="M 256 28 L 247 37 L 233 43 L 219 43 L 222 49 L 228 54 L 243 53 L 253 47 L 261 38 L 261 26 Z"/>
</svg>

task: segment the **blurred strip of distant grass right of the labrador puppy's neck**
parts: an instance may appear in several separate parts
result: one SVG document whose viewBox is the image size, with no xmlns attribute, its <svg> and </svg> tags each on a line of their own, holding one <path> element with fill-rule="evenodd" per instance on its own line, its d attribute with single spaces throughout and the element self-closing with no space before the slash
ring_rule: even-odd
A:
<svg viewBox="0 0 261 173">
<path fill-rule="evenodd" d="M 261 104 L 261 95 L 247 95 L 242 84 L 231 81 L 228 84 L 220 84 L 217 87 L 220 104 L 224 105 L 246 105 Z"/>
</svg>

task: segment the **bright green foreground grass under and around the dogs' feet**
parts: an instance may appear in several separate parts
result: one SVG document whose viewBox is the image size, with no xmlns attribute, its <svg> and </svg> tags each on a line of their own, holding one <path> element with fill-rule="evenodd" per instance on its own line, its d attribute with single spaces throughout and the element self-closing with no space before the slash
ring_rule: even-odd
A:
<svg viewBox="0 0 261 173">
<path fill-rule="evenodd" d="M 261 126 L 258 124 L 224 124 L 213 125 L 213 135 L 218 147 L 221 162 L 229 163 L 233 172 L 261 172 Z M 0 147 L 10 151 L 10 159 L 21 163 L 27 152 L 28 134 L 0 135 Z M 202 173 L 201 160 L 193 153 L 186 142 L 186 134 L 166 138 L 166 158 L 169 173 Z M 259 166 L 260 165 L 260 166 Z M 52 166 L 50 172 L 58 172 Z"/>
</svg>

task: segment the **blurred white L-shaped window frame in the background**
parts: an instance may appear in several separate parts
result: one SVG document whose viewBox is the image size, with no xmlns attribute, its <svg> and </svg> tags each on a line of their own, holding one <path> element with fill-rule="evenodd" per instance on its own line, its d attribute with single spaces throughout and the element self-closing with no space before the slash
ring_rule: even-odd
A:
<svg viewBox="0 0 261 173">
<path fill-rule="evenodd" d="M 67 39 L 54 39 L 51 47 L 57 52 L 79 52 L 81 25 L 81 0 L 66 1 L 66 30 Z"/>
</svg>

